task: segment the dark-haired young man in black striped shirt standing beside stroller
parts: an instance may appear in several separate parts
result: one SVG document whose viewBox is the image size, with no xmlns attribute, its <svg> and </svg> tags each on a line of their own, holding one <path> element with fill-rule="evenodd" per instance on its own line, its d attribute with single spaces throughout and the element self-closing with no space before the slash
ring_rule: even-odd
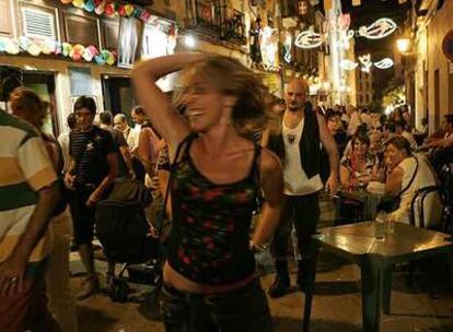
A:
<svg viewBox="0 0 453 332">
<path fill-rule="evenodd" d="M 93 246 L 95 206 L 118 176 L 118 149 L 112 134 L 93 126 L 96 104 L 93 98 L 81 96 L 76 100 L 77 129 L 69 134 L 69 169 L 66 186 L 74 190 L 71 205 L 74 241 L 88 276 L 79 299 L 98 290 L 94 269 Z"/>
</svg>

